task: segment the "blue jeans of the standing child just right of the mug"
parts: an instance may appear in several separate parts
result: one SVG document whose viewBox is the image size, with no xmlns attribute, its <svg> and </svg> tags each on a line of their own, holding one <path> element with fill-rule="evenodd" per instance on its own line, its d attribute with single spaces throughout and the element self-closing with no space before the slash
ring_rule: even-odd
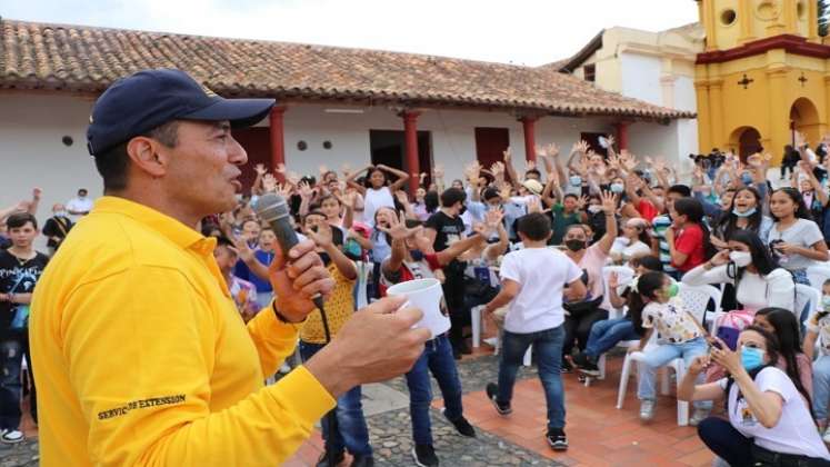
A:
<svg viewBox="0 0 830 467">
<path fill-rule="evenodd" d="M 409 387 L 409 415 L 412 419 L 412 439 L 417 445 L 432 444 L 432 423 L 429 407 L 432 404 L 432 386 L 429 374 L 438 381 L 443 397 L 444 416 L 457 420 L 463 416 L 461 406 L 461 380 L 458 378 L 452 346 L 446 335 L 423 345 L 423 354 L 407 374 Z"/>
</svg>

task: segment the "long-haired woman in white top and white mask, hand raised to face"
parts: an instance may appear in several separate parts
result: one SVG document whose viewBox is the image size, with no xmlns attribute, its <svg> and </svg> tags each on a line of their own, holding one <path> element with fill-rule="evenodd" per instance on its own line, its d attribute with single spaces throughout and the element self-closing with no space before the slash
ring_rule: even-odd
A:
<svg viewBox="0 0 830 467">
<path fill-rule="evenodd" d="M 761 308 L 794 309 L 796 282 L 792 276 L 778 266 L 756 234 L 736 230 L 727 248 L 683 275 L 682 279 L 690 286 L 729 284 L 734 287 L 737 307 L 721 316 L 716 328 L 743 329 Z"/>
</svg>

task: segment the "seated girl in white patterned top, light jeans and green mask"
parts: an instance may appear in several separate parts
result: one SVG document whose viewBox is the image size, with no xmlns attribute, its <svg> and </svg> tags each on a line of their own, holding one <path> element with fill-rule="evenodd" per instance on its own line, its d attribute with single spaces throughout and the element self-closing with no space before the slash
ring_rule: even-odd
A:
<svg viewBox="0 0 830 467">
<path fill-rule="evenodd" d="M 690 365 L 696 357 L 706 355 L 707 331 L 683 308 L 682 300 L 677 296 L 678 286 L 668 275 L 647 272 L 637 280 L 632 291 L 628 312 L 634 330 L 642 337 L 640 344 L 629 347 L 628 351 L 644 351 L 637 397 L 640 399 L 640 419 L 651 421 L 657 410 L 657 369 L 676 358 L 682 358 L 686 365 Z M 653 332 L 660 332 L 662 344 L 646 350 Z M 711 408 L 711 403 L 696 403 L 689 425 L 696 426 L 708 417 Z"/>
</svg>

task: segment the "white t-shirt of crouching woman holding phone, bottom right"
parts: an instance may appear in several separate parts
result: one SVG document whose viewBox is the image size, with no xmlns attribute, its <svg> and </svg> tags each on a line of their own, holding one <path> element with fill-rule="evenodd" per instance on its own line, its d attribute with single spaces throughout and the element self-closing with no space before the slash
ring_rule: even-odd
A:
<svg viewBox="0 0 830 467">
<path fill-rule="evenodd" d="M 727 379 L 718 381 L 723 390 Z M 729 423 L 734 429 L 748 438 L 754 438 L 756 444 L 773 453 L 793 454 L 818 457 L 830 460 L 830 453 L 821 441 L 816 425 L 810 416 L 810 409 L 796 389 L 790 377 L 776 367 L 767 367 L 756 376 L 756 386 L 761 393 L 772 391 L 781 396 L 783 407 L 781 418 L 772 428 L 764 428 L 752 415 L 747 401 L 738 399 L 738 384 L 729 389 Z"/>
</svg>

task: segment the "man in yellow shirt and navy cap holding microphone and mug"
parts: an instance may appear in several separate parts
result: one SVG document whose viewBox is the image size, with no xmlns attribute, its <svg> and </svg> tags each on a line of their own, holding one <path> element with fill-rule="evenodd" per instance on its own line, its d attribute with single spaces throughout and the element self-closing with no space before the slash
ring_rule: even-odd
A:
<svg viewBox="0 0 830 467">
<path fill-rule="evenodd" d="M 332 342 L 263 387 L 333 282 L 304 241 L 270 268 L 279 297 L 247 326 L 199 220 L 230 210 L 247 155 L 231 127 L 266 99 L 226 100 L 178 70 L 119 80 L 87 138 L 104 192 L 32 301 L 41 465 L 274 466 L 356 385 L 407 371 L 429 338 L 403 300 L 357 314 Z"/>
</svg>

